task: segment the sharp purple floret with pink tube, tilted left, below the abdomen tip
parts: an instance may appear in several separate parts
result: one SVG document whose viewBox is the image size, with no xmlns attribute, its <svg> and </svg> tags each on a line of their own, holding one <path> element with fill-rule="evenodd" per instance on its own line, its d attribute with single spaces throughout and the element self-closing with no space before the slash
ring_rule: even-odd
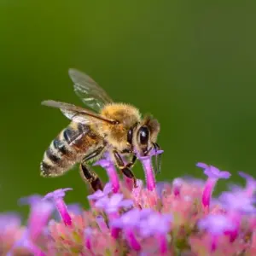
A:
<svg viewBox="0 0 256 256">
<path fill-rule="evenodd" d="M 67 226 L 72 225 L 72 219 L 67 212 L 67 205 L 65 204 L 63 197 L 65 196 L 65 192 L 72 189 L 56 189 L 53 192 L 48 193 L 44 196 L 44 200 L 51 200 L 54 201 L 55 207 L 57 208 L 58 212 L 61 215 L 61 218 Z"/>
</svg>

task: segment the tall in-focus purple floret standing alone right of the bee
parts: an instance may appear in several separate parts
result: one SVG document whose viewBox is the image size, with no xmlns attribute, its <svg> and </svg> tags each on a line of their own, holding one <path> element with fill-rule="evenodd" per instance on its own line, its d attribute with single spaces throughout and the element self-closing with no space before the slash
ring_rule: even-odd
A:
<svg viewBox="0 0 256 256">
<path fill-rule="evenodd" d="M 215 166 L 207 166 L 207 164 L 204 164 L 204 163 L 198 163 L 196 166 L 203 168 L 204 173 L 208 177 L 207 182 L 205 184 L 205 188 L 202 193 L 201 202 L 202 202 L 203 207 L 209 207 L 211 197 L 212 197 L 212 192 L 213 192 L 213 189 L 214 189 L 216 183 L 218 182 L 218 179 L 219 178 L 224 178 L 224 179 L 229 178 L 230 172 L 219 171 L 218 168 L 216 168 Z"/>
</svg>

